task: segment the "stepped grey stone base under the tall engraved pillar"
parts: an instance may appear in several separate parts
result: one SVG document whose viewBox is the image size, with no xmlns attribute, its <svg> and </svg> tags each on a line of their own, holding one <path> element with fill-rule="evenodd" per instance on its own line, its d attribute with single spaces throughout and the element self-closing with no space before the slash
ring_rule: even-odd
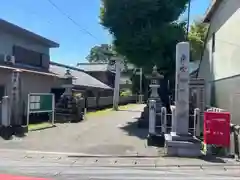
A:
<svg viewBox="0 0 240 180">
<path fill-rule="evenodd" d="M 193 136 L 165 134 L 165 149 L 168 156 L 200 157 L 201 141 Z"/>
</svg>

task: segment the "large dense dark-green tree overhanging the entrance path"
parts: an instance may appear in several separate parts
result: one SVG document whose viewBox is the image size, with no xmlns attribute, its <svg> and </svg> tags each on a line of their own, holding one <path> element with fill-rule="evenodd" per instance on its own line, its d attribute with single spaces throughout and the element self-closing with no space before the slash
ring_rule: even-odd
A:
<svg viewBox="0 0 240 180">
<path fill-rule="evenodd" d="M 174 72 L 176 44 L 184 40 L 179 16 L 188 0 L 102 0 L 101 24 L 114 38 L 116 51 L 150 71 Z"/>
</svg>

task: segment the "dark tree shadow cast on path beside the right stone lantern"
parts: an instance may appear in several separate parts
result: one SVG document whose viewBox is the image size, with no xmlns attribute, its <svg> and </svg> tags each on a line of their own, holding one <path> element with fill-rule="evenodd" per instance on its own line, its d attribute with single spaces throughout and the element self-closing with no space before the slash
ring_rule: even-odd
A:
<svg viewBox="0 0 240 180">
<path fill-rule="evenodd" d="M 129 136 L 136 136 L 140 139 L 146 139 L 148 135 L 148 129 L 140 129 L 138 127 L 138 121 L 128 122 L 127 125 L 120 128 L 128 132 Z"/>
</svg>

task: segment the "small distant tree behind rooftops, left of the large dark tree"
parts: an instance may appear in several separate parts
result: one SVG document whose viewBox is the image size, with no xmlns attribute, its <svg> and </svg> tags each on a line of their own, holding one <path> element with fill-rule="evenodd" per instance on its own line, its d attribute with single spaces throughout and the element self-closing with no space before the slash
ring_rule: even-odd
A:
<svg viewBox="0 0 240 180">
<path fill-rule="evenodd" d="M 111 45 L 101 44 L 100 46 L 94 46 L 86 59 L 90 63 L 107 63 L 114 53 Z"/>
</svg>

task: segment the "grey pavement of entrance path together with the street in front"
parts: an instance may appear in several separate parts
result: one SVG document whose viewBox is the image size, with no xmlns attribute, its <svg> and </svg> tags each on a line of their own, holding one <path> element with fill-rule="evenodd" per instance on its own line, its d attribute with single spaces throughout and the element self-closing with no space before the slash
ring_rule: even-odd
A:
<svg viewBox="0 0 240 180">
<path fill-rule="evenodd" d="M 240 164 L 231 159 L 161 157 L 161 148 L 147 147 L 147 130 L 137 128 L 142 109 L 137 105 L 0 140 L 0 174 L 57 180 L 240 179 Z"/>
</svg>

